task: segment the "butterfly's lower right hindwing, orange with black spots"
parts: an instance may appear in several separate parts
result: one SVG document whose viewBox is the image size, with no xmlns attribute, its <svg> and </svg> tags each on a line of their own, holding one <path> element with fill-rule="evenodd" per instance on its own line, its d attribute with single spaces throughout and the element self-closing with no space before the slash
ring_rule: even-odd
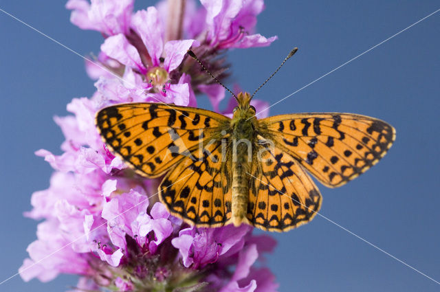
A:
<svg viewBox="0 0 440 292">
<path fill-rule="evenodd" d="M 285 232 L 311 221 L 321 205 L 314 181 L 280 148 L 267 148 L 250 175 L 248 220 L 264 230 Z"/>
</svg>

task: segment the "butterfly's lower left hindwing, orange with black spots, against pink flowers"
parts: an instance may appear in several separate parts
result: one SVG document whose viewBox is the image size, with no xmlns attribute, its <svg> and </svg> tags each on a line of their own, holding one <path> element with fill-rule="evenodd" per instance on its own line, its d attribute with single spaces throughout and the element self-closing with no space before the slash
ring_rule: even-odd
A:
<svg viewBox="0 0 440 292">
<path fill-rule="evenodd" d="M 159 198 L 171 214 L 197 227 L 219 227 L 228 221 L 232 167 L 222 149 L 219 140 L 207 144 L 203 153 L 185 158 L 164 177 Z"/>
</svg>

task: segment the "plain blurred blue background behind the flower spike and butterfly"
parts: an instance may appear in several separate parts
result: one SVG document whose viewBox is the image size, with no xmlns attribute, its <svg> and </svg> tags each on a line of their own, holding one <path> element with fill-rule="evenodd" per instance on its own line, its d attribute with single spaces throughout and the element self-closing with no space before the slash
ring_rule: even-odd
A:
<svg viewBox="0 0 440 292">
<path fill-rule="evenodd" d="M 137 1 L 137 8 L 152 1 Z M 102 37 L 69 23 L 65 1 L 0 1 L 0 8 L 71 47 L 97 53 Z M 229 53 L 232 78 L 252 91 L 292 47 L 300 50 L 257 98 L 276 102 L 440 8 L 439 1 L 266 1 L 258 32 L 266 48 Z M 440 12 L 272 107 L 271 115 L 340 111 L 371 115 L 397 129 L 391 151 L 347 186 L 323 186 L 321 214 L 440 280 Z M 35 238 L 23 218 L 30 194 L 48 187 L 52 168 L 34 151 L 61 154 L 54 115 L 91 96 L 81 58 L 0 12 L 0 282 L 17 272 Z M 200 102 L 207 106 L 207 102 Z M 280 291 L 439 291 L 438 284 L 316 216 L 274 234 L 267 256 Z M 43 284 L 19 276 L 0 291 L 65 291 L 74 276 Z"/>
</svg>

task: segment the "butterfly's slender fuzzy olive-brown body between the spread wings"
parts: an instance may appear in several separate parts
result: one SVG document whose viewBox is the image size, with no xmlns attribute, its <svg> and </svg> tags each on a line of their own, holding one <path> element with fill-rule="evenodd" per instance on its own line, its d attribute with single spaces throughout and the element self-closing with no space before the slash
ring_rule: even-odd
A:
<svg viewBox="0 0 440 292">
<path fill-rule="evenodd" d="M 249 93 L 240 93 L 239 106 L 234 109 L 232 130 L 232 218 L 235 226 L 248 223 L 249 175 L 252 164 L 252 148 L 256 142 L 257 120 L 255 109 L 250 106 Z"/>
</svg>

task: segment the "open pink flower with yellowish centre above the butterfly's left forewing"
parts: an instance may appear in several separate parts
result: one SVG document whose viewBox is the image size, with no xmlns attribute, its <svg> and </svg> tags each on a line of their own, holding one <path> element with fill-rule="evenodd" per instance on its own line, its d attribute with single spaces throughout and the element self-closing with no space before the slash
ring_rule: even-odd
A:
<svg viewBox="0 0 440 292">
<path fill-rule="evenodd" d="M 188 49 L 198 45 L 198 42 L 183 40 L 164 43 L 162 19 L 154 7 L 136 12 L 131 19 L 131 27 L 135 34 L 110 36 L 102 44 L 102 52 L 143 76 L 142 80 L 135 80 L 135 85 L 149 91 L 144 101 L 195 104 L 194 100 L 190 100 L 190 86 L 185 82 L 184 75 L 175 84 L 168 81 Z M 129 41 L 134 37 L 140 38 L 140 41 Z M 162 58 L 162 55 L 165 57 Z"/>
</svg>

